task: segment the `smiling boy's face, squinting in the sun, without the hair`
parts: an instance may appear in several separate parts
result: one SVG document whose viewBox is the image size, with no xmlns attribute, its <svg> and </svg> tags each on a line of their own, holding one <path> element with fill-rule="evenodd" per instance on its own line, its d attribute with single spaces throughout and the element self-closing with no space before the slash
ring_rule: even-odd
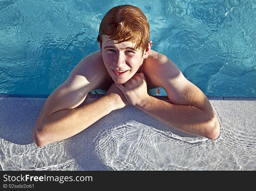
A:
<svg viewBox="0 0 256 191">
<path fill-rule="evenodd" d="M 142 65 L 143 59 L 147 58 L 148 54 L 144 51 L 141 57 L 141 50 L 135 50 L 135 44 L 132 42 L 115 43 L 117 43 L 117 41 L 106 38 L 106 36 L 103 35 L 100 51 L 104 65 L 113 81 L 123 84 L 134 76 Z M 118 73 L 114 70 L 126 72 Z"/>
</svg>

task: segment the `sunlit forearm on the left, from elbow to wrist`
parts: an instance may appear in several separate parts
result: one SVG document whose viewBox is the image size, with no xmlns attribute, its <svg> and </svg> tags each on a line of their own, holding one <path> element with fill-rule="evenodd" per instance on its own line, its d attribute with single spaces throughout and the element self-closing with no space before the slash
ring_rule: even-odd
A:
<svg viewBox="0 0 256 191">
<path fill-rule="evenodd" d="M 35 127 L 34 139 L 44 146 L 72 137 L 109 114 L 112 106 L 109 97 L 103 96 L 82 107 L 55 112 Z"/>
</svg>

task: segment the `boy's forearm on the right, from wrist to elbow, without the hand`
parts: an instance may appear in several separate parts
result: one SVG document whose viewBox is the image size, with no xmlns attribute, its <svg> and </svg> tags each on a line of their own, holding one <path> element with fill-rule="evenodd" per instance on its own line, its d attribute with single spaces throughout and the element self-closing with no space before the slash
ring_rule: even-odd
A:
<svg viewBox="0 0 256 191">
<path fill-rule="evenodd" d="M 149 96 L 135 107 L 179 131 L 207 138 L 211 138 L 213 135 L 210 134 L 218 131 L 218 127 L 215 127 L 216 120 L 210 112 L 194 106 L 174 105 Z"/>
</svg>

